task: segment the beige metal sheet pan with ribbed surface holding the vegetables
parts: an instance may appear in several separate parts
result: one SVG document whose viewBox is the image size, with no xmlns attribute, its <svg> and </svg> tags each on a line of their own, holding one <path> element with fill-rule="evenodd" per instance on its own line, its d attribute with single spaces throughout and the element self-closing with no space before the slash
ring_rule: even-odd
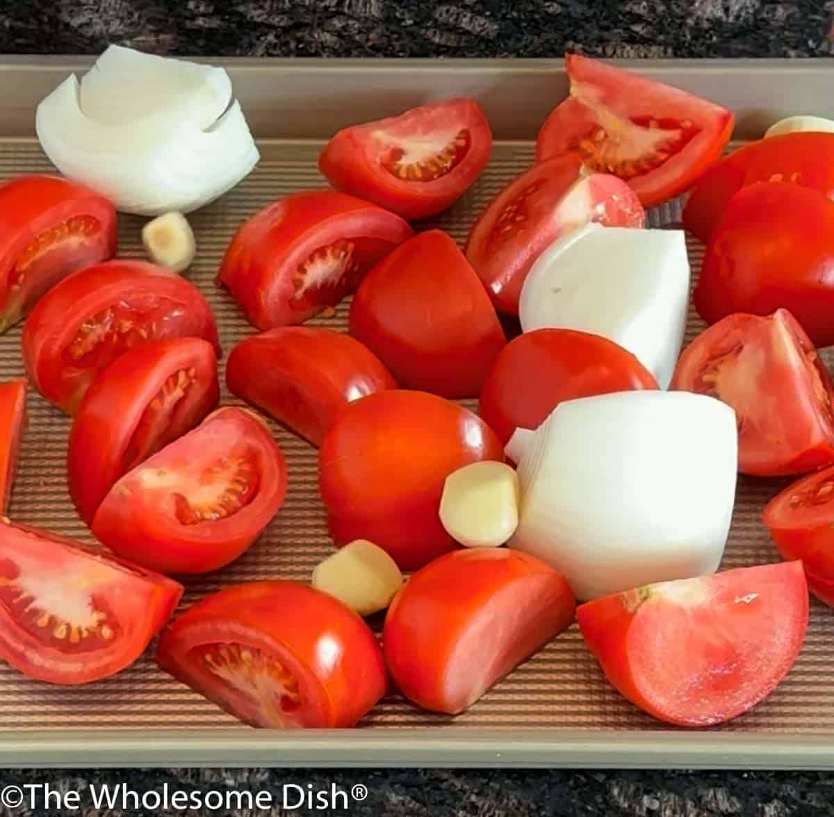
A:
<svg viewBox="0 0 834 817">
<path fill-rule="evenodd" d="M 80 58 L 0 58 L 0 178 L 48 170 L 33 139 L 39 98 Z M 334 128 L 396 113 L 429 98 L 480 98 L 499 142 L 490 166 L 465 198 L 436 221 L 459 241 L 480 208 L 532 159 L 531 140 L 564 96 L 560 63 L 550 61 L 227 60 L 237 93 L 261 140 L 263 158 L 244 183 L 194 213 L 198 256 L 188 273 L 207 293 L 224 348 L 254 330 L 213 286 L 219 259 L 244 218 L 284 193 L 323 185 L 315 159 Z M 631 63 L 631 68 L 702 93 L 739 112 L 741 138 L 790 113 L 834 115 L 834 63 Z M 790 107 L 788 107 L 790 106 Z M 651 224 L 675 224 L 680 203 L 651 212 Z M 120 217 L 123 257 L 141 257 L 142 219 Z M 702 249 L 690 243 L 693 269 Z M 332 318 L 344 328 L 346 304 Z M 701 323 L 691 315 L 688 337 Z M 23 372 L 19 328 L 0 337 L 0 378 Z M 229 395 L 225 402 L 232 403 Z M 64 455 L 68 419 L 29 396 L 10 515 L 88 539 L 68 499 Z M 289 461 L 284 509 L 239 561 L 189 584 L 183 605 L 249 579 L 308 580 L 329 553 L 316 485 L 316 455 L 277 425 Z M 782 483 L 741 479 L 724 568 L 777 559 L 762 528 L 762 504 Z M 156 669 L 148 651 L 132 668 L 98 684 L 63 689 L 0 666 L 0 764 L 15 765 L 610 765 L 834 768 L 834 611 L 814 602 L 801 658 L 763 704 L 721 728 L 662 728 L 620 698 L 568 632 L 455 719 L 428 714 L 391 696 L 341 732 L 270 733 L 239 725 Z"/>
</svg>

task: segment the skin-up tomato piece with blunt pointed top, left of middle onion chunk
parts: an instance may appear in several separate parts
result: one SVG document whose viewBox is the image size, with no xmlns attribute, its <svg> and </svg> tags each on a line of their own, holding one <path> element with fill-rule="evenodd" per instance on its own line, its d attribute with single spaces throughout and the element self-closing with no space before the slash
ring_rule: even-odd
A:
<svg viewBox="0 0 834 817">
<path fill-rule="evenodd" d="M 376 265 L 350 306 L 350 333 L 408 388 L 476 397 L 504 329 L 455 241 L 420 233 Z"/>
</svg>

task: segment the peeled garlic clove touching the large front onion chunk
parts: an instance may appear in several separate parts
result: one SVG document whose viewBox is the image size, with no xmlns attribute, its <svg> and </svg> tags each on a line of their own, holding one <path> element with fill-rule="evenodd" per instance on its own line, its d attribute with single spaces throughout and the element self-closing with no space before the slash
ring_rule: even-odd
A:
<svg viewBox="0 0 834 817">
<path fill-rule="evenodd" d="M 515 533 L 518 502 L 515 470 L 505 463 L 472 463 L 446 477 L 440 522 L 467 548 L 497 548 Z"/>
</svg>

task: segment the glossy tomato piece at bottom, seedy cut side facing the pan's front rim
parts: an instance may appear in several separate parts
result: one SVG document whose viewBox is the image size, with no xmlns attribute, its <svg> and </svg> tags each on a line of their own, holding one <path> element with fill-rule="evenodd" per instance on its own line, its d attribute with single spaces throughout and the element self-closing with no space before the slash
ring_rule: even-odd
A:
<svg viewBox="0 0 834 817">
<path fill-rule="evenodd" d="M 178 616 L 157 662 L 252 726 L 353 726 L 385 694 L 382 653 L 353 610 L 304 584 L 239 584 Z"/>
</svg>

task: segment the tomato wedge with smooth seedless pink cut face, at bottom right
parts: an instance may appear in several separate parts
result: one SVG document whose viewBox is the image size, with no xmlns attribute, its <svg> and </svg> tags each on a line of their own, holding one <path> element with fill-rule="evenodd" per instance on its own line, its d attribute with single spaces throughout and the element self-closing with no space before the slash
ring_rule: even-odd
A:
<svg viewBox="0 0 834 817">
<path fill-rule="evenodd" d="M 800 562 L 648 584 L 576 610 L 612 686 L 656 718 L 721 724 L 785 677 L 808 624 Z"/>
</svg>

